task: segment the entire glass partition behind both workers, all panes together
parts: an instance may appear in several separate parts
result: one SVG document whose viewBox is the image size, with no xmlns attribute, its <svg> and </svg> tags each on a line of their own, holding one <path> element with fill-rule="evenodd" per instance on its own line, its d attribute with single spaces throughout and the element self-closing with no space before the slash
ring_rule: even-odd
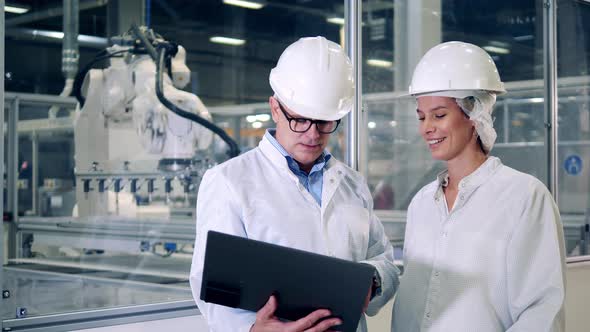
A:
<svg viewBox="0 0 590 332">
<path fill-rule="evenodd" d="M 79 8 L 77 71 L 95 62 L 79 87 L 87 107 L 74 97 L 57 97 L 76 90 L 62 73 L 64 2 L 22 3 L 25 12 L 6 14 L 4 41 L 4 160 L 10 166 L 4 205 L 13 218 L 5 223 L 2 281 L 13 296 L 3 302 L 1 317 L 191 301 L 196 193 L 203 172 L 228 158 L 227 145 L 204 135 L 198 152 L 184 158 L 188 162 L 163 161 L 170 158 L 143 147 L 138 130 L 145 133 L 146 126 L 134 122 L 134 84 L 154 73 L 135 72 L 134 64 L 147 55 L 125 49 L 132 46 L 125 39 L 133 35 L 131 23 L 152 29 L 154 34 L 142 30 L 152 40 L 184 47 L 190 82 L 175 89 L 198 96 L 243 152 L 273 126 L 268 73 L 281 52 L 304 36 L 342 44 L 344 2 L 267 0 L 257 9 L 223 1 L 85 2 Z M 435 44 L 461 40 L 492 55 L 509 91 L 496 104 L 493 154 L 547 182 L 542 6 L 532 0 L 363 1 L 367 146 L 361 168 L 397 248 L 411 198 L 443 167 L 417 134 L 414 102 L 400 98 L 414 66 Z M 590 243 L 589 5 L 562 0 L 558 13 L 558 203 L 568 255 L 578 255 Z M 120 38 L 109 41 L 115 36 Z M 125 57 L 101 58 L 107 47 Z M 71 64 L 71 57 L 64 59 Z M 96 85 L 102 81 L 92 81 L 92 73 L 104 75 L 108 84 Z M 16 116 L 14 126 L 8 115 Z M 341 160 L 345 128 L 340 126 L 329 148 Z M 11 152 L 9 142 L 17 149 Z"/>
</svg>

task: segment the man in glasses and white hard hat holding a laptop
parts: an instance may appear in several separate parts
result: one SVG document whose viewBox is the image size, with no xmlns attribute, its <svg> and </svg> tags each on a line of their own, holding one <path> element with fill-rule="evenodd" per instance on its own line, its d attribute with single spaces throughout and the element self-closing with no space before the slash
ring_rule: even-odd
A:
<svg viewBox="0 0 590 332">
<path fill-rule="evenodd" d="M 190 281 L 212 331 L 325 331 L 340 321 L 321 320 L 330 312 L 317 310 L 284 322 L 274 316 L 274 297 L 258 313 L 200 301 L 209 230 L 373 265 L 369 315 L 398 285 L 393 250 L 364 179 L 325 150 L 352 108 L 350 60 L 324 37 L 302 38 L 283 52 L 269 81 L 276 129 L 269 129 L 257 148 L 209 170 L 199 189 Z M 366 331 L 364 316 L 358 331 Z"/>
</svg>

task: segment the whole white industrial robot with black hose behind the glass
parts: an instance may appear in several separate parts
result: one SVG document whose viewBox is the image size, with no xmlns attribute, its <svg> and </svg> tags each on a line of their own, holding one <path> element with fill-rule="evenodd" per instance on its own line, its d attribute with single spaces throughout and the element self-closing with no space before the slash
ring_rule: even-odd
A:
<svg viewBox="0 0 590 332">
<path fill-rule="evenodd" d="M 213 161 L 207 149 L 218 134 L 190 81 L 186 52 L 145 27 L 110 39 L 74 83 L 75 215 L 192 215 L 196 190 Z M 109 60 L 106 69 L 90 69 Z"/>
</svg>

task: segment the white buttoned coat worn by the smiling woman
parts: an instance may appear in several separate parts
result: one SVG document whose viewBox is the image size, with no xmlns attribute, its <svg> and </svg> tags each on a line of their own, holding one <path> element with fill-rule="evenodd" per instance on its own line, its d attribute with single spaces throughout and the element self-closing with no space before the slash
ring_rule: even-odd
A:
<svg viewBox="0 0 590 332">
<path fill-rule="evenodd" d="M 392 331 L 563 331 L 563 228 L 543 183 L 489 157 L 449 213 L 444 178 L 408 208 Z"/>
</svg>

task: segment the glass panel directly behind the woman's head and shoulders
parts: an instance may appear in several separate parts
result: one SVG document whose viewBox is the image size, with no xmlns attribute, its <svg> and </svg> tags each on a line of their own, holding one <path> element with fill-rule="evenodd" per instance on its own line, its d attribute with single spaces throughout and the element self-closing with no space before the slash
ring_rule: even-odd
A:
<svg viewBox="0 0 590 332">
<path fill-rule="evenodd" d="M 403 238 L 410 200 L 444 167 L 418 135 L 415 102 L 399 98 L 422 55 L 441 42 L 473 43 L 492 56 L 509 91 L 495 106 L 492 155 L 546 181 L 541 6 L 532 0 L 363 2 L 365 169 L 392 238 Z"/>
</svg>

